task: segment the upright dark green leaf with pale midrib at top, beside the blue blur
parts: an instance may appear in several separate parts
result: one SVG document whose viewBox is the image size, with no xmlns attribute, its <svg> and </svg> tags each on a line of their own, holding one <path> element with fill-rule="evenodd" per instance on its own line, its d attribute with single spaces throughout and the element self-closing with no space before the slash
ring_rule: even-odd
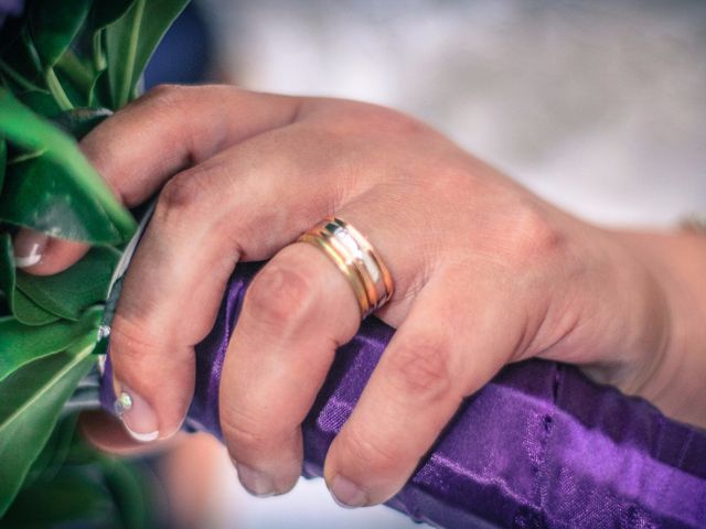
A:
<svg viewBox="0 0 706 529">
<path fill-rule="evenodd" d="M 189 0 L 137 0 L 124 17 L 106 28 L 114 108 L 133 97 L 147 62 L 188 3 Z"/>
</svg>

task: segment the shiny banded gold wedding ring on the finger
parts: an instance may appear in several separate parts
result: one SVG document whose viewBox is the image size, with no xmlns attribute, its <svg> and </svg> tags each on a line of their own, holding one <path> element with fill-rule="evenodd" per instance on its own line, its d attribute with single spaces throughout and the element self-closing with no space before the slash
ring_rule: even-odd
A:
<svg viewBox="0 0 706 529">
<path fill-rule="evenodd" d="M 368 316 L 392 298 L 394 284 L 389 270 L 373 245 L 346 222 L 327 218 L 301 235 L 299 241 L 322 250 L 341 270 L 353 288 L 361 317 Z"/>
</svg>

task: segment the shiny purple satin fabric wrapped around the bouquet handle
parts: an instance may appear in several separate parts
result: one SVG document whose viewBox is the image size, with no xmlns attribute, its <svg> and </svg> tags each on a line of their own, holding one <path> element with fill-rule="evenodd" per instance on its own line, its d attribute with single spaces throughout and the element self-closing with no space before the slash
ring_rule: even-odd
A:
<svg viewBox="0 0 706 529">
<path fill-rule="evenodd" d="M 189 429 L 221 438 L 223 359 L 260 266 L 238 266 L 213 331 L 196 347 Z M 372 317 L 339 349 L 303 423 L 306 476 L 321 476 L 327 450 L 393 333 Z M 106 366 L 101 400 L 113 411 Z M 706 433 L 570 366 L 525 361 L 463 403 L 387 505 L 443 528 L 706 527 Z"/>
</svg>

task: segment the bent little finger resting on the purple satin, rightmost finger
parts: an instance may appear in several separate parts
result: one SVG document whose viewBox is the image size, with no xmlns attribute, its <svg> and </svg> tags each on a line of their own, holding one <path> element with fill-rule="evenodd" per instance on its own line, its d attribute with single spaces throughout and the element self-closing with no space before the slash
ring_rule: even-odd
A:
<svg viewBox="0 0 706 529">
<path fill-rule="evenodd" d="M 333 441 L 324 477 L 339 504 L 362 507 L 396 494 L 462 399 L 509 361 L 521 333 L 509 324 L 503 296 L 484 295 L 474 281 L 484 304 L 469 306 L 460 278 L 426 284 Z"/>
</svg>

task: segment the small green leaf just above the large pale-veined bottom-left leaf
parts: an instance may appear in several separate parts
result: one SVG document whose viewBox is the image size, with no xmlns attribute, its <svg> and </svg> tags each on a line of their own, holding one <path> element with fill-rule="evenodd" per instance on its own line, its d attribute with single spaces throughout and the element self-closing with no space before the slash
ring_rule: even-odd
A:
<svg viewBox="0 0 706 529">
<path fill-rule="evenodd" d="M 78 322 L 55 322 L 40 327 L 29 326 L 14 317 L 0 319 L 0 381 L 26 364 L 66 349 L 78 338 L 97 328 L 103 309 L 94 307 Z"/>
</svg>

